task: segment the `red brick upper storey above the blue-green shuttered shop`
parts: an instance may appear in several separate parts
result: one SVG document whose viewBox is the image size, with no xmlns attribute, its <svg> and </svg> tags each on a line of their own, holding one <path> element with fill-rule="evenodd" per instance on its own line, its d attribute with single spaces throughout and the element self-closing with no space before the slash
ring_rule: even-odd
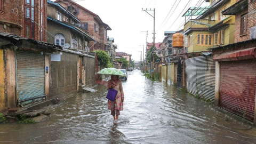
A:
<svg viewBox="0 0 256 144">
<path fill-rule="evenodd" d="M 46 1 L 0 2 L 0 31 L 46 42 Z"/>
</svg>

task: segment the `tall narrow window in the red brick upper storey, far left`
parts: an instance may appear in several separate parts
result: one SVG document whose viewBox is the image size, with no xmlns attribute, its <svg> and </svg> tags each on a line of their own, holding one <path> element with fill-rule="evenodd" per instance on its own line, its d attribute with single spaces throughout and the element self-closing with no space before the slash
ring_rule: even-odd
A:
<svg viewBox="0 0 256 144">
<path fill-rule="evenodd" d="M 35 38 L 35 11 L 34 0 L 25 1 L 25 37 Z"/>
</svg>

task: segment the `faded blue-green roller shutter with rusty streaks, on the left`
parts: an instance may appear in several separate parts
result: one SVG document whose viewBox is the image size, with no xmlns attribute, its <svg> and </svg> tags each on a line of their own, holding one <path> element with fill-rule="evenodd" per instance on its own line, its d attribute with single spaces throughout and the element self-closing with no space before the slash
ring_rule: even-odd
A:
<svg viewBox="0 0 256 144">
<path fill-rule="evenodd" d="M 44 55 L 17 52 L 18 102 L 26 104 L 45 94 Z"/>
</svg>

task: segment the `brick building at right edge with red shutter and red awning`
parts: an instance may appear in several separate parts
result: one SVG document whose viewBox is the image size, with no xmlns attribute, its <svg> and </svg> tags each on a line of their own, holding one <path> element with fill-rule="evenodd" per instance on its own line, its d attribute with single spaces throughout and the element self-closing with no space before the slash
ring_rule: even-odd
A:
<svg viewBox="0 0 256 144">
<path fill-rule="evenodd" d="M 235 43 L 212 48 L 215 104 L 256 124 L 256 1 L 236 1 L 222 12 L 235 15 Z"/>
</svg>

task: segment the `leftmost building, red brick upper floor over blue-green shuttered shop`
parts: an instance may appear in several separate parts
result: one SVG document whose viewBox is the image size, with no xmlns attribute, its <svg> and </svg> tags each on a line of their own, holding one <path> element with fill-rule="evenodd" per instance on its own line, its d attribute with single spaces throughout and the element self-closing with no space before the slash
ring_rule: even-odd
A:
<svg viewBox="0 0 256 144">
<path fill-rule="evenodd" d="M 46 43 L 46 1 L 0 4 L 0 109 L 49 98 L 50 54 L 62 48 Z"/>
</svg>

